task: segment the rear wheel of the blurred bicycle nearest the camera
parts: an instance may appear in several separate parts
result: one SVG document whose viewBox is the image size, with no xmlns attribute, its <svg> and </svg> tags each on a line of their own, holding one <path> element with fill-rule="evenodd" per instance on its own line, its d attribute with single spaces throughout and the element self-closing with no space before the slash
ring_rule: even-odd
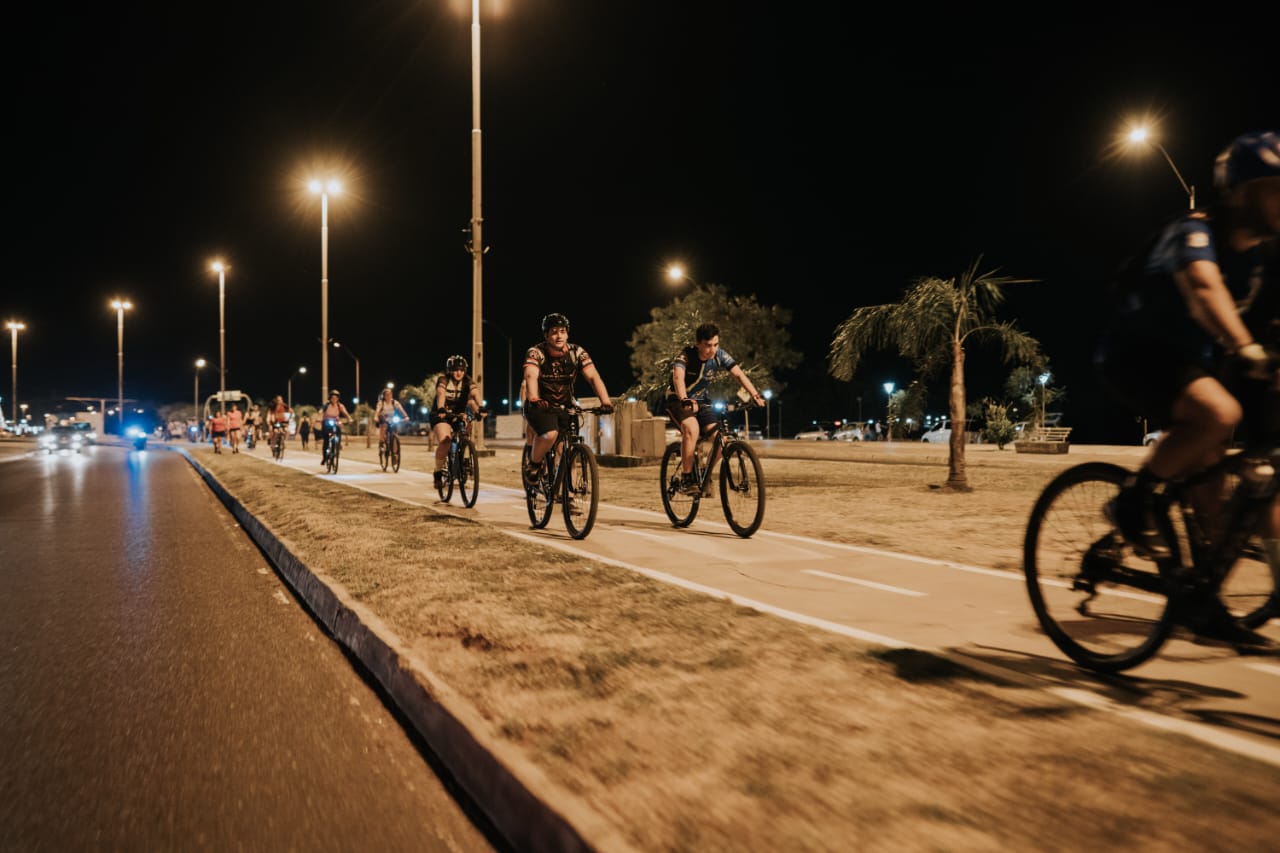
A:
<svg viewBox="0 0 1280 853">
<path fill-rule="evenodd" d="M 1023 542 L 1036 619 L 1064 654 L 1097 672 L 1147 661 L 1174 628 L 1172 584 L 1107 517 L 1128 475 L 1108 462 L 1066 469 L 1036 501 Z M 1166 533 L 1176 561 L 1176 539 Z"/>
</svg>

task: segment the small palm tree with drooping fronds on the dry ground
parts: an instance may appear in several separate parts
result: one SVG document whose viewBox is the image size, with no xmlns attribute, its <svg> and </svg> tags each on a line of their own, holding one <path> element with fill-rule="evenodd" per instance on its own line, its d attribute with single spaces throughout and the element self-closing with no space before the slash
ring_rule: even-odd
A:
<svg viewBox="0 0 1280 853">
<path fill-rule="evenodd" d="M 969 491 L 965 475 L 965 384 L 964 355 L 970 341 L 989 341 L 1004 350 L 1005 362 L 1039 362 L 1039 342 L 1012 323 L 998 323 L 996 309 L 1005 301 L 1007 284 L 1036 279 L 997 275 L 997 270 L 978 274 L 982 256 L 960 275 L 920 278 L 908 288 L 901 302 L 868 305 L 856 309 L 840 325 L 827 353 L 827 369 L 836 379 L 852 379 L 863 353 L 869 348 L 896 347 L 909 359 L 920 377 L 951 365 L 951 443 L 947 487 Z"/>
</svg>

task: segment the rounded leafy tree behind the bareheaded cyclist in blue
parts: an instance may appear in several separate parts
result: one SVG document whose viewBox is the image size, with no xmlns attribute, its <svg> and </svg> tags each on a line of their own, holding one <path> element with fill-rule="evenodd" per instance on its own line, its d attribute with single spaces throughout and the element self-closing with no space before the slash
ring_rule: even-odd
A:
<svg viewBox="0 0 1280 853">
<path fill-rule="evenodd" d="M 791 311 L 760 305 L 754 295 L 730 296 L 723 284 L 699 284 L 664 307 L 653 309 L 649 316 L 649 323 L 636 327 L 627 342 L 635 375 L 627 396 L 644 400 L 650 409 L 660 403 L 671 382 L 671 360 L 694 343 L 694 333 L 703 323 L 719 327 L 721 346 L 762 392 L 781 391 L 783 386 L 776 371 L 795 368 L 803 357 L 787 346 Z M 728 396 L 736 389 L 737 380 L 722 375 L 712 387 L 712 396 Z"/>
</svg>

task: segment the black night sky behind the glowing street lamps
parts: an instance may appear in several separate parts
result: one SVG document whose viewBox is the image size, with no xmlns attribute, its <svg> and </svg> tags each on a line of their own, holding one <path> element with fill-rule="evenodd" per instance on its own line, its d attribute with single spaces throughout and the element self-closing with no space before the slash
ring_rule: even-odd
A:
<svg viewBox="0 0 1280 853">
<path fill-rule="evenodd" d="M 1280 124 L 1274 12 L 873 22 L 846 4 L 504 5 L 481 4 L 494 407 L 508 338 L 518 364 L 549 311 L 621 394 L 626 341 L 672 297 L 662 270 L 678 259 L 794 311 L 805 360 L 781 377 L 783 434 L 877 418 L 881 384 L 910 373 L 886 353 L 829 379 L 833 328 L 982 256 L 1039 279 L 1001 316 L 1043 343 L 1073 439 L 1137 442 L 1091 373 L 1093 306 L 1187 196 L 1158 152 L 1115 140 L 1157 119 L 1210 202 L 1217 151 Z M 191 401 L 196 357 L 218 361 L 214 256 L 232 266 L 228 387 L 284 393 L 306 365 L 294 405 L 319 402 L 320 204 L 305 183 L 329 170 L 346 186 L 329 209 L 329 334 L 360 357 L 362 396 L 470 359 L 468 3 L 26 4 L 9 18 L 0 319 L 28 327 L 22 402 L 115 397 L 116 295 L 136 305 L 125 396 Z M 980 351 L 969 365 L 972 398 L 1000 391 L 1007 368 Z M 349 398 L 352 360 L 330 351 L 329 371 Z M 206 368 L 201 396 L 216 382 Z M 929 410 L 945 406 L 936 383 Z"/>
</svg>

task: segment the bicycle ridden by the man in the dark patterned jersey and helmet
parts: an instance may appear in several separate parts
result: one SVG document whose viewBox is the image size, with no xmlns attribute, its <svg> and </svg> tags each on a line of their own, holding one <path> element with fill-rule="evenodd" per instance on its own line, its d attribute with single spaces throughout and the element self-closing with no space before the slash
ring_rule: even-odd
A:
<svg viewBox="0 0 1280 853">
<path fill-rule="evenodd" d="M 559 407 L 557 407 L 559 409 Z M 564 406 L 568 425 L 559 430 L 543 459 L 538 480 L 525 487 L 529 521 L 541 530 L 552 517 L 552 507 L 559 502 L 564 514 L 564 528 L 575 539 L 585 539 L 595 524 L 600 506 L 600 466 L 595 451 L 582 439 L 582 415 L 603 415 L 612 409 L 600 406 L 584 409 Z M 521 470 L 529 466 L 529 446 L 520 460 Z"/>
</svg>

